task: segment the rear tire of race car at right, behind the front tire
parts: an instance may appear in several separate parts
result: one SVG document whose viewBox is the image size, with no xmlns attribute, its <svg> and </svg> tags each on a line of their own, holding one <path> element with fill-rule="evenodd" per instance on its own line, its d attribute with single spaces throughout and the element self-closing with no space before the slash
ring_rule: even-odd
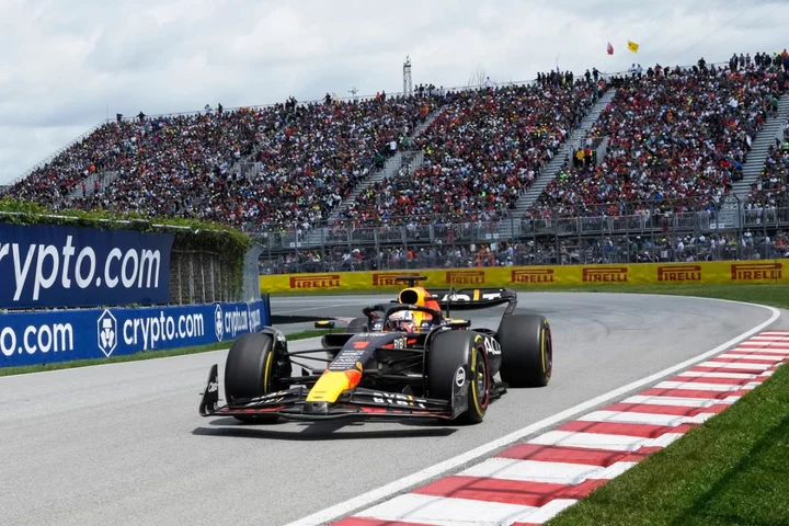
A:
<svg viewBox="0 0 789 526">
<path fill-rule="evenodd" d="M 545 387 L 553 373 L 553 340 L 544 316 L 505 316 L 499 325 L 501 377 L 510 387 Z"/>
</svg>

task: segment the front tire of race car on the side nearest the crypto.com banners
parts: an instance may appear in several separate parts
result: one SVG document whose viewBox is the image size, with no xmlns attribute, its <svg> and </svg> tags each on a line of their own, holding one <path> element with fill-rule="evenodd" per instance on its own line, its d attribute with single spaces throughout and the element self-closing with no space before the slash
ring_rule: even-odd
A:
<svg viewBox="0 0 789 526">
<path fill-rule="evenodd" d="M 277 361 L 274 338 L 266 333 L 242 334 L 233 342 L 225 362 L 227 402 L 276 392 Z M 235 416 L 247 423 L 274 422 L 276 415 Z"/>
</svg>

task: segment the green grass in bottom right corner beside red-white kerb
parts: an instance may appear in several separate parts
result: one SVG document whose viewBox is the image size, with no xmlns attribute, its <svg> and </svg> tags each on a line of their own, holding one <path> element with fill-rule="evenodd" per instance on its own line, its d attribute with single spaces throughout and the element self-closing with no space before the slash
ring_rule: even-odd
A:
<svg viewBox="0 0 789 526">
<path fill-rule="evenodd" d="M 789 524 L 789 367 L 547 526 Z"/>
</svg>

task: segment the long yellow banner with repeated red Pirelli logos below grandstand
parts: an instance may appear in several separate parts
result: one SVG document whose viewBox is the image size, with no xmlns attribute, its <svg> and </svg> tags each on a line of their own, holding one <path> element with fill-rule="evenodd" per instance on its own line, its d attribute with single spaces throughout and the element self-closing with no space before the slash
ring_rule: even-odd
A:
<svg viewBox="0 0 789 526">
<path fill-rule="evenodd" d="M 632 265 L 495 266 L 403 272 L 335 272 L 261 276 L 262 293 L 393 290 L 398 276 L 427 276 L 425 287 L 545 287 L 789 283 L 789 260 L 639 263 Z"/>
</svg>

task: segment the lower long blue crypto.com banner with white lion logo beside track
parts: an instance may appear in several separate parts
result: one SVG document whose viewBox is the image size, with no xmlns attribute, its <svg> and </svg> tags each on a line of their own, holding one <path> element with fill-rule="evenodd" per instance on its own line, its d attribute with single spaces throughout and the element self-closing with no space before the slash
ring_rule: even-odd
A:
<svg viewBox="0 0 789 526">
<path fill-rule="evenodd" d="M 0 315 L 0 367 L 226 342 L 271 324 L 263 300 Z"/>
</svg>

